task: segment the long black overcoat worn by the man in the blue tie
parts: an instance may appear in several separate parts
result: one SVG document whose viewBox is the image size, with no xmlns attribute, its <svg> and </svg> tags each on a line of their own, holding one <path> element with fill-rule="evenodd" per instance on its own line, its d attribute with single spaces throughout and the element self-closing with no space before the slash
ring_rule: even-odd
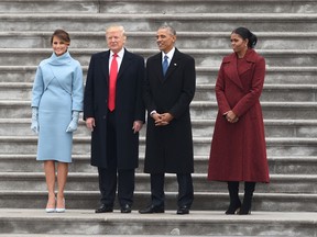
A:
<svg viewBox="0 0 317 237">
<path fill-rule="evenodd" d="M 164 78 L 162 53 L 146 61 L 144 101 L 147 113 L 170 112 L 174 120 L 155 126 L 147 115 L 144 171 L 149 173 L 194 172 L 189 104 L 196 88 L 195 60 L 175 48 Z"/>
</svg>

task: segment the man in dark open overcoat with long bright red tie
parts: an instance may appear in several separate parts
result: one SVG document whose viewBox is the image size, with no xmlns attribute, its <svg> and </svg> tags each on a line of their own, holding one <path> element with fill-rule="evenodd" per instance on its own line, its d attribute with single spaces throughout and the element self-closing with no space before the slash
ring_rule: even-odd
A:
<svg viewBox="0 0 317 237">
<path fill-rule="evenodd" d="M 125 38 L 123 26 L 108 27 L 109 50 L 91 56 L 87 74 L 84 120 L 91 131 L 91 165 L 98 167 L 101 193 L 96 213 L 113 211 L 117 182 L 121 213 L 130 213 L 133 204 L 145 70 L 144 59 L 123 47 Z"/>
</svg>

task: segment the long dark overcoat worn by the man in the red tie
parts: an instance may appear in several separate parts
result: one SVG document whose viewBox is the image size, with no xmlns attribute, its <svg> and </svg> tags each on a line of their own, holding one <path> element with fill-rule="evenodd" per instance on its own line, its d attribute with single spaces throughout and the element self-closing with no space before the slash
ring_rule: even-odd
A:
<svg viewBox="0 0 317 237">
<path fill-rule="evenodd" d="M 107 168 L 107 114 L 110 50 L 91 56 L 84 97 L 84 119 L 95 117 L 91 133 L 91 165 Z M 139 161 L 139 133 L 134 121 L 145 121 L 142 100 L 144 59 L 124 48 L 116 87 L 116 129 L 118 169 L 133 169 Z"/>
</svg>

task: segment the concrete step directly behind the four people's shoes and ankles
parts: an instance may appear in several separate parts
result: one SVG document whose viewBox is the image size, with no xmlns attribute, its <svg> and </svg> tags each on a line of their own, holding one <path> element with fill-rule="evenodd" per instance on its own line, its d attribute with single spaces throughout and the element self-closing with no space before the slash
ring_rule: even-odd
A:
<svg viewBox="0 0 317 237">
<path fill-rule="evenodd" d="M 223 183 L 226 187 L 226 183 Z M 259 184 L 260 185 L 260 184 Z M 243 185 L 242 185 L 243 187 Z M 165 192 L 165 208 L 177 208 L 177 192 Z M 133 210 L 144 208 L 150 203 L 150 192 L 134 192 Z M 95 210 L 100 204 L 99 191 L 65 191 L 66 208 Z M 47 191 L 0 191 L 0 208 L 41 208 L 44 212 Z M 274 212 L 316 212 L 317 194 L 306 193 L 260 193 L 254 192 L 253 211 Z M 193 210 L 221 211 L 229 205 L 226 192 L 195 192 Z M 116 203 L 116 208 L 118 208 Z"/>
</svg>

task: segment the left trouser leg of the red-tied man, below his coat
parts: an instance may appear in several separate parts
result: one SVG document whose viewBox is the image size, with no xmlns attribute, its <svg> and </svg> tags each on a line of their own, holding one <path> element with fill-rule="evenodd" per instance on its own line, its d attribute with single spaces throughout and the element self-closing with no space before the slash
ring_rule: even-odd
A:
<svg viewBox="0 0 317 237">
<path fill-rule="evenodd" d="M 113 206 L 117 190 L 117 170 L 98 168 L 101 204 Z"/>
</svg>

